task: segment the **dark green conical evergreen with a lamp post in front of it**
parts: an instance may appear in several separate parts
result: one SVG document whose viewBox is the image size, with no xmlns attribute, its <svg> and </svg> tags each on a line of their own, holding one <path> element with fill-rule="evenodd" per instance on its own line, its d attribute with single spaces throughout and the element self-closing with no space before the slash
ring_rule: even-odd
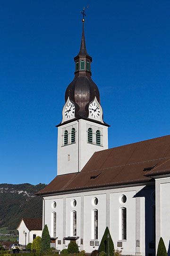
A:
<svg viewBox="0 0 170 256">
<path fill-rule="evenodd" d="M 110 236 L 109 229 L 108 229 L 108 227 L 106 227 L 106 229 L 104 231 L 104 235 L 102 237 L 102 241 L 99 246 L 99 253 L 105 252 L 108 255 L 108 238 L 107 238 L 108 234 Z M 109 255 L 110 256 L 114 255 L 113 250 L 114 250 L 114 244 L 113 244 L 113 240 L 110 236 L 110 238 L 109 238 Z"/>
</svg>

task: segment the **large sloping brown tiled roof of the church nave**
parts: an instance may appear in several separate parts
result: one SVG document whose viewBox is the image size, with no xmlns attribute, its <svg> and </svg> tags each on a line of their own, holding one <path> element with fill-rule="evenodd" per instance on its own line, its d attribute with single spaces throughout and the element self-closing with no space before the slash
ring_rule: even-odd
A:
<svg viewBox="0 0 170 256">
<path fill-rule="evenodd" d="M 170 173 L 170 135 L 95 152 L 80 173 L 59 175 L 36 194 L 148 182 L 153 173 Z"/>
</svg>

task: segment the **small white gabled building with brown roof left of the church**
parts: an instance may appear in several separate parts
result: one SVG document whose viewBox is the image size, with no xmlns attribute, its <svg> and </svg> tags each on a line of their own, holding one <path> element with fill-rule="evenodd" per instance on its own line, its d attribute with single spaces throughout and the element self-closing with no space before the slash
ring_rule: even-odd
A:
<svg viewBox="0 0 170 256">
<path fill-rule="evenodd" d="M 32 243 L 34 238 L 42 236 L 42 219 L 22 218 L 17 230 L 19 232 L 19 244 Z"/>
</svg>

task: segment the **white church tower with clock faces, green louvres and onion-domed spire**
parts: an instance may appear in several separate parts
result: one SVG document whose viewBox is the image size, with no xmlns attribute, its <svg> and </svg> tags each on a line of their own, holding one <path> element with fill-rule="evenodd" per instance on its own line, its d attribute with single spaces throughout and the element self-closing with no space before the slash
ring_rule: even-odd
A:
<svg viewBox="0 0 170 256">
<path fill-rule="evenodd" d="M 75 77 L 65 92 L 62 121 L 58 127 L 57 174 L 80 172 L 94 152 L 108 149 L 108 127 L 103 121 L 100 94 L 91 78 L 92 57 L 81 46 L 74 58 Z"/>
</svg>

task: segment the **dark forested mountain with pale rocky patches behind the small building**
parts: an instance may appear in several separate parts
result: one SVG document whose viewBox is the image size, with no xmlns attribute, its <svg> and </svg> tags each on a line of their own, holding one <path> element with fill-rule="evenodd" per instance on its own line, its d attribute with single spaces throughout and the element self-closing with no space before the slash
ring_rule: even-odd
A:
<svg viewBox="0 0 170 256">
<path fill-rule="evenodd" d="M 42 218 L 42 197 L 35 193 L 45 186 L 0 184 L 0 228 L 16 229 L 22 218 Z"/>
</svg>

